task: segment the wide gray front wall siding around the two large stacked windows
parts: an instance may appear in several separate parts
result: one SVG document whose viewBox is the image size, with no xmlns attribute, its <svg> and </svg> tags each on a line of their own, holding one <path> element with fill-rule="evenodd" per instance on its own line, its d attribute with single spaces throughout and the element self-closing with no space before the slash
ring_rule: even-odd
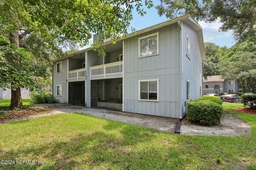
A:
<svg viewBox="0 0 256 170">
<path fill-rule="evenodd" d="M 159 32 L 159 54 L 138 58 L 138 38 Z M 159 79 L 159 101 L 139 101 L 138 80 Z M 177 24 L 124 41 L 124 111 L 179 118 L 179 29 Z"/>
</svg>

